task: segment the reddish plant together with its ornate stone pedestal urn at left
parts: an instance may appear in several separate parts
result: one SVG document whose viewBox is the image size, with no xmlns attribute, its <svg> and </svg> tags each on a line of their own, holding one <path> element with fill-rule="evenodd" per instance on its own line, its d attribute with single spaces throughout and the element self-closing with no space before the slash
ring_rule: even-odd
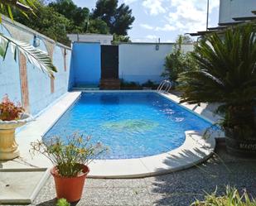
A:
<svg viewBox="0 0 256 206">
<path fill-rule="evenodd" d="M 31 116 L 24 113 L 20 103 L 13 103 L 7 96 L 0 103 L 0 160 L 12 160 L 20 155 L 15 130 L 27 122 Z"/>
</svg>

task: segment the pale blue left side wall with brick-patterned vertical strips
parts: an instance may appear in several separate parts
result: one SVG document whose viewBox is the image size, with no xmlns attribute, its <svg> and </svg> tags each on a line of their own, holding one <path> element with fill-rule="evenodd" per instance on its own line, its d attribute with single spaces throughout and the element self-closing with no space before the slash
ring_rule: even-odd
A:
<svg viewBox="0 0 256 206">
<path fill-rule="evenodd" d="M 7 17 L 2 17 L 0 32 L 31 45 L 37 36 L 40 41 L 37 48 L 45 50 L 58 69 L 55 79 L 51 79 L 22 55 L 18 55 L 17 62 L 13 60 L 10 48 L 6 60 L 0 58 L 0 98 L 7 93 L 11 99 L 22 103 L 28 113 L 36 115 L 67 92 L 71 50 Z"/>
</svg>

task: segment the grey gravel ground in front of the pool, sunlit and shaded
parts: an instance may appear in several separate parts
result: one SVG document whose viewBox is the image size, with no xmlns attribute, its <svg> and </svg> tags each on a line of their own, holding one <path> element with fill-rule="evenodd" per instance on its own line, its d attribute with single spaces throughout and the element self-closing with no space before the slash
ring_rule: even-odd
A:
<svg viewBox="0 0 256 206">
<path fill-rule="evenodd" d="M 229 156 L 222 146 L 218 146 L 215 152 L 216 155 L 205 164 L 169 175 L 133 180 L 86 180 L 83 197 L 76 205 L 188 206 L 195 199 L 202 199 L 205 192 L 214 192 L 216 187 L 222 194 L 227 184 L 241 191 L 247 189 L 256 197 L 256 160 Z M 32 205 L 56 205 L 52 178 Z"/>
</svg>

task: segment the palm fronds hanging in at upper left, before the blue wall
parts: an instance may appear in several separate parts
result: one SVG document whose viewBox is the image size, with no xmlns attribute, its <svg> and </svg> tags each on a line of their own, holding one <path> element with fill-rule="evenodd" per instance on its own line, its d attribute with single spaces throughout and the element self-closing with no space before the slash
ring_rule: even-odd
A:
<svg viewBox="0 0 256 206">
<path fill-rule="evenodd" d="M 7 12 L 8 16 L 13 20 L 12 7 L 16 7 L 27 16 L 27 12 L 33 12 L 33 9 L 36 9 L 34 2 L 35 0 L 0 0 L 0 15 L 1 12 Z M 2 19 L 0 16 L 0 22 L 1 21 Z M 54 77 L 54 73 L 57 69 L 52 64 L 50 56 L 45 51 L 36 49 L 26 42 L 14 40 L 11 37 L 0 33 L 0 56 L 2 56 L 3 59 L 5 58 L 9 47 L 12 48 L 14 60 L 17 59 L 17 52 L 20 52 L 27 57 L 27 60 L 32 65 L 36 65 L 41 71 Z"/>
</svg>

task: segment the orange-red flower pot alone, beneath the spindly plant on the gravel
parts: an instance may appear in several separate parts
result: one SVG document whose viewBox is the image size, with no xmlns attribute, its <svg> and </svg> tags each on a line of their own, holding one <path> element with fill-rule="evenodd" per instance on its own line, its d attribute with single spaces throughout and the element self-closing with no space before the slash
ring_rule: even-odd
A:
<svg viewBox="0 0 256 206">
<path fill-rule="evenodd" d="M 83 174 L 77 177 L 62 177 L 58 175 L 56 167 L 51 169 L 51 175 L 53 175 L 56 184 L 57 199 L 64 198 L 70 203 L 81 199 L 85 179 L 89 173 L 89 167 L 86 165 L 83 165 L 83 167 Z"/>
</svg>

